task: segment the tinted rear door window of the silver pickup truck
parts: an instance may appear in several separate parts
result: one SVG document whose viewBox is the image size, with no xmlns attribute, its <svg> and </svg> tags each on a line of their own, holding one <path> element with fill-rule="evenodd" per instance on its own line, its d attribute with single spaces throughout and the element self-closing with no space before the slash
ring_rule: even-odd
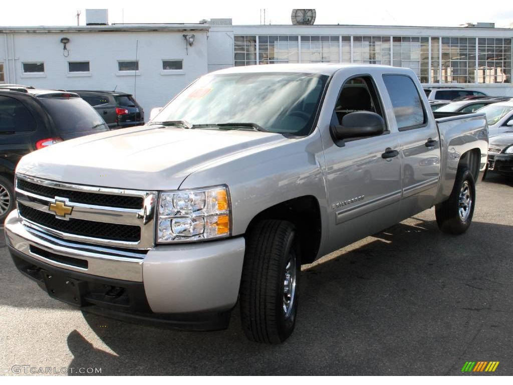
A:
<svg viewBox="0 0 513 385">
<path fill-rule="evenodd" d="M 426 122 L 419 91 L 409 76 L 383 75 L 399 129 L 416 128 Z"/>
</svg>

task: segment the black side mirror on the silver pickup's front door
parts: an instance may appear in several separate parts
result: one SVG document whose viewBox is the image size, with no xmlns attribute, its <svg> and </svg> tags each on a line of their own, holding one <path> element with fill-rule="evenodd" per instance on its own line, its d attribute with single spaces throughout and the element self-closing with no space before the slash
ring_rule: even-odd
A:
<svg viewBox="0 0 513 385">
<path fill-rule="evenodd" d="M 385 121 L 376 112 L 355 111 L 344 115 L 341 125 L 331 125 L 330 131 L 340 146 L 344 139 L 381 135 L 385 132 Z"/>
</svg>

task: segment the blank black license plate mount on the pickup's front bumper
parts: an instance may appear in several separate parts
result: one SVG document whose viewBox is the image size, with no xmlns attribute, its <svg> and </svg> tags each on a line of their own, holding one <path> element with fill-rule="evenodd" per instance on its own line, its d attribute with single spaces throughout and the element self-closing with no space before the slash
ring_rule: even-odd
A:
<svg viewBox="0 0 513 385">
<path fill-rule="evenodd" d="M 65 275 L 53 274 L 42 270 L 48 295 L 75 306 L 84 306 L 83 299 L 86 292 L 87 282 L 66 277 Z"/>
</svg>

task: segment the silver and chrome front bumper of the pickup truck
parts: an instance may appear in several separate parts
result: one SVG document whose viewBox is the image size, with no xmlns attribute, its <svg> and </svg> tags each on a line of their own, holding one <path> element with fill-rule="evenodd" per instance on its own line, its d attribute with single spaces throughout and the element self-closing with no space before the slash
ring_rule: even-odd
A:
<svg viewBox="0 0 513 385">
<path fill-rule="evenodd" d="M 159 245 L 146 255 L 122 257 L 106 252 L 107 248 L 91 249 L 43 236 L 26 226 L 16 210 L 7 217 L 5 235 L 21 273 L 46 290 L 49 283 L 43 274 L 47 272 L 75 280 L 81 293 L 74 304 L 93 313 L 148 318 L 188 329 L 222 329 L 219 319 L 213 323 L 210 319 L 226 318 L 238 298 L 245 250 L 242 237 Z M 73 304 L 73 300 L 56 298 Z"/>
</svg>

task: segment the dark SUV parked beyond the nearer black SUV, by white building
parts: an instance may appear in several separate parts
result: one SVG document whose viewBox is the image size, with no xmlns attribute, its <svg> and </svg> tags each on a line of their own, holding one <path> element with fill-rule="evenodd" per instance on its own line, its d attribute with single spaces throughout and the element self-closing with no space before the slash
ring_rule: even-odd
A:
<svg viewBox="0 0 513 385">
<path fill-rule="evenodd" d="M 144 124 L 143 108 L 131 94 L 116 91 L 86 91 L 75 92 L 87 103 L 94 107 L 110 129 L 140 126 Z"/>
</svg>

